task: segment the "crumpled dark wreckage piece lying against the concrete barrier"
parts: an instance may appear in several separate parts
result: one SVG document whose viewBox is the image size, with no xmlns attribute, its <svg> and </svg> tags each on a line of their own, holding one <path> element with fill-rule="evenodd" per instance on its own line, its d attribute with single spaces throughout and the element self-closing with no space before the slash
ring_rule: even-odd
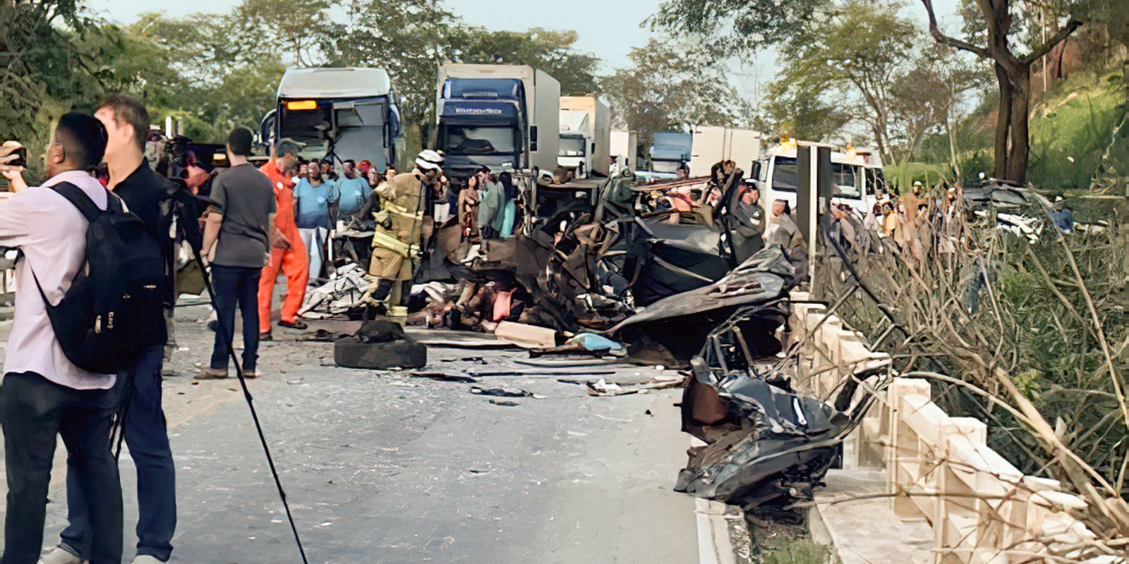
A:
<svg viewBox="0 0 1129 564">
<path fill-rule="evenodd" d="M 808 502 L 837 462 L 843 438 L 874 402 L 879 370 L 855 374 L 831 403 L 793 389 L 786 362 L 765 359 L 745 331 L 763 311 L 739 309 L 691 361 L 682 430 L 707 446 L 689 450 L 676 491 L 746 510 Z"/>
</svg>

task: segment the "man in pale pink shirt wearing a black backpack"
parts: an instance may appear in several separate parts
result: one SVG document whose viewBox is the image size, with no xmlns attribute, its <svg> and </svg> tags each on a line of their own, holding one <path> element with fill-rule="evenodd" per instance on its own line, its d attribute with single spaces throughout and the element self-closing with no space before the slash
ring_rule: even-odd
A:
<svg viewBox="0 0 1129 564">
<path fill-rule="evenodd" d="M 90 562 L 117 564 L 122 557 L 122 491 L 108 443 L 120 386 L 113 372 L 72 362 L 73 349 L 59 338 L 53 314 L 88 262 L 86 212 L 106 210 L 114 199 L 89 174 L 105 147 L 98 120 L 62 116 L 47 149 L 47 182 L 15 194 L 0 209 L 0 247 L 23 255 L 0 388 L 8 477 L 5 564 L 35 564 L 40 557 L 56 434 L 69 455 L 68 475 L 87 500 Z"/>
</svg>

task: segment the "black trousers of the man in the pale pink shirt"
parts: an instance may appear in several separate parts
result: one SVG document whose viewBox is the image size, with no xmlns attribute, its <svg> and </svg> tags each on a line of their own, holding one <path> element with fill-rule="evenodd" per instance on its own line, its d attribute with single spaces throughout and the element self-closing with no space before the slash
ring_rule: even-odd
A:
<svg viewBox="0 0 1129 564">
<path fill-rule="evenodd" d="M 67 446 L 90 515 L 91 564 L 122 562 L 122 485 L 110 452 L 110 420 L 121 387 L 77 390 L 40 374 L 9 373 L 0 388 L 8 477 L 3 564 L 36 564 L 43 547 L 55 435 Z"/>
</svg>

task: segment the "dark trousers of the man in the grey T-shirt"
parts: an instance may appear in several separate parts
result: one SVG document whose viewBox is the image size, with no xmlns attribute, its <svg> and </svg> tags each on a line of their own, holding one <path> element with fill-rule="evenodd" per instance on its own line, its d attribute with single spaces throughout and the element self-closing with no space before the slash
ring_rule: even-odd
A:
<svg viewBox="0 0 1129 564">
<path fill-rule="evenodd" d="M 212 290 L 216 290 L 216 346 L 211 368 L 227 369 L 226 335 L 235 338 L 235 307 L 243 314 L 243 371 L 254 372 L 259 362 L 259 279 L 262 268 L 211 266 Z"/>
</svg>

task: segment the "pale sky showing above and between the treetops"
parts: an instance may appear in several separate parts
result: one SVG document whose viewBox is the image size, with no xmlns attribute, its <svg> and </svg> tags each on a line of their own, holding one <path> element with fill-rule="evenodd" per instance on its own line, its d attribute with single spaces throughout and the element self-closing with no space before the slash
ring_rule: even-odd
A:
<svg viewBox="0 0 1129 564">
<path fill-rule="evenodd" d="M 954 16 L 957 1 L 934 2 L 945 27 L 955 28 L 957 24 Z M 87 3 L 103 16 L 129 24 L 142 11 L 164 10 L 169 16 L 198 11 L 227 12 L 239 0 L 87 0 Z M 579 36 L 577 49 L 599 56 L 603 61 L 599 68 L 602 73 L 627 67 L 631 47 L 647 43 L 651 32 L 640 24 L 658 11 L 660 3 L 662 0 L 445 0 L 447 8 L 466 23 L 490 29 L 575 29 Z M 918 19 L 922 26 L 924 12 L 917 1 L 911 1 L 905 8 L 905 14 Z M 924 27 L 922 41 L 931 41 Z M 734 67 L 733 82 L 741 96 L 755 102 L 763 85 L 773 79 L 778 58 L 776 51 L 768 51 L 755 58 L 730 62 Z"/>
</svg>

